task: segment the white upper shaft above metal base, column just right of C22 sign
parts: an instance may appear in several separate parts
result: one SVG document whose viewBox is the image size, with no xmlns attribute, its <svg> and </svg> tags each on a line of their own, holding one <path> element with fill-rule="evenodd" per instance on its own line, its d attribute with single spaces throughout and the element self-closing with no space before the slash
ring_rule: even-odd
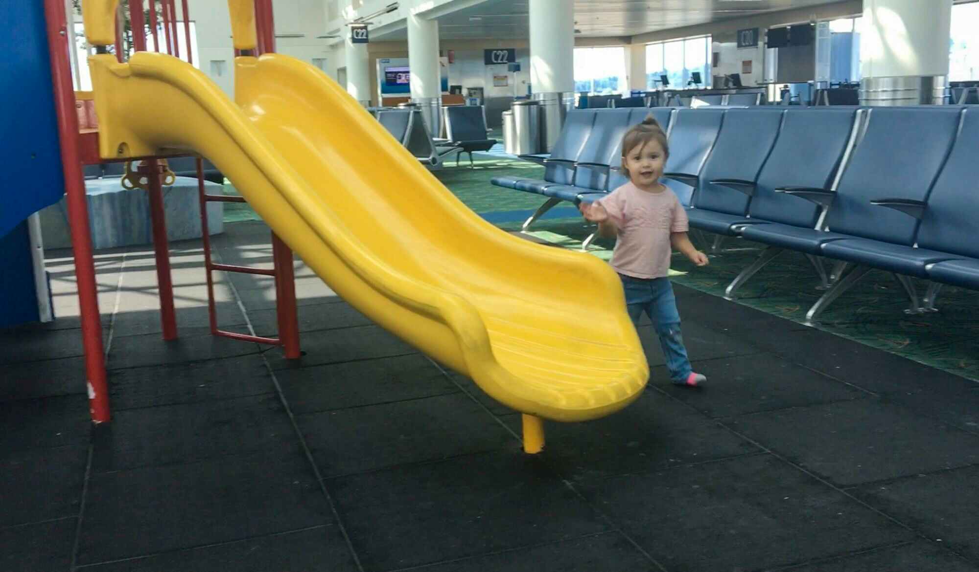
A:
<svg viewBox="0 0 979 572">
<path fill-rule="evenodd" d="M 531 88 L 575 91 L 575 3 L 531 0 Z"/>
</svg>

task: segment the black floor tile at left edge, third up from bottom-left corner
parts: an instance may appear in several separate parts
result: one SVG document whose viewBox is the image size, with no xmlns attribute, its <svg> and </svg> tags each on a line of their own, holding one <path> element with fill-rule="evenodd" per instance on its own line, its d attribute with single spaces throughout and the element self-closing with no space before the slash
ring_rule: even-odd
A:
<svg viewBox="0 0 979 572">
<path fill-rule="evenodd" d="M 2 366 L 0 402 L 85 393 L 85 358 Z"/>
</svg>

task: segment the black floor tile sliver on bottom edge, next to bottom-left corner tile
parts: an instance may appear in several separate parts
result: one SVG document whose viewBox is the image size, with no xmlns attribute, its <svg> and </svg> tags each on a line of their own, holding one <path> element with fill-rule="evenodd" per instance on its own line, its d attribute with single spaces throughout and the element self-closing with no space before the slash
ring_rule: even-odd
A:
<svg viewBox="0 0 979 572">
<path fill-rule="evenodd" d="M 84 568 L 90 572 L 353 572 L 356 564 L 340 529 L 297 532 Z"/>
</svg>

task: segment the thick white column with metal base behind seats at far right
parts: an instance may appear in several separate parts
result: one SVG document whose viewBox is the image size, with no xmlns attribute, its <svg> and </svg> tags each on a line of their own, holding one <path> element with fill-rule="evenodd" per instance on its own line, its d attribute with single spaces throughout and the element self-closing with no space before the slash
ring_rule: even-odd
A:
<svg viewBox="0 0 979 572">
<path fill-rule="evenodd" d="M 863 0 L 863 105 L 944 102 L 952 2 Z"/>
</svg>

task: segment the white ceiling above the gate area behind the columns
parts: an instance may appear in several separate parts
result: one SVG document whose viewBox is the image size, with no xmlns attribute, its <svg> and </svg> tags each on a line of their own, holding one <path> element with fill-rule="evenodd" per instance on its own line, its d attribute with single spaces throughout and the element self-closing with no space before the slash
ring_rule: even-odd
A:
<svg viewBox="0 0 979 572">
<path fill-rule="evenodd" d="M 569 0 L 557 0 L 565 2 Z M 581 36 L 633 36 L 645 32 L 744 18 L 839 0 L 575 0 L 575 28 Z M 486 0 L 439 19 L 439 37 L 448 40 L 527 38 L 528 0 Z M 372 35 L 371 39 L 375 36 Z M 403 27 L 376 36 L 404 40 Z"/>
</svg>

